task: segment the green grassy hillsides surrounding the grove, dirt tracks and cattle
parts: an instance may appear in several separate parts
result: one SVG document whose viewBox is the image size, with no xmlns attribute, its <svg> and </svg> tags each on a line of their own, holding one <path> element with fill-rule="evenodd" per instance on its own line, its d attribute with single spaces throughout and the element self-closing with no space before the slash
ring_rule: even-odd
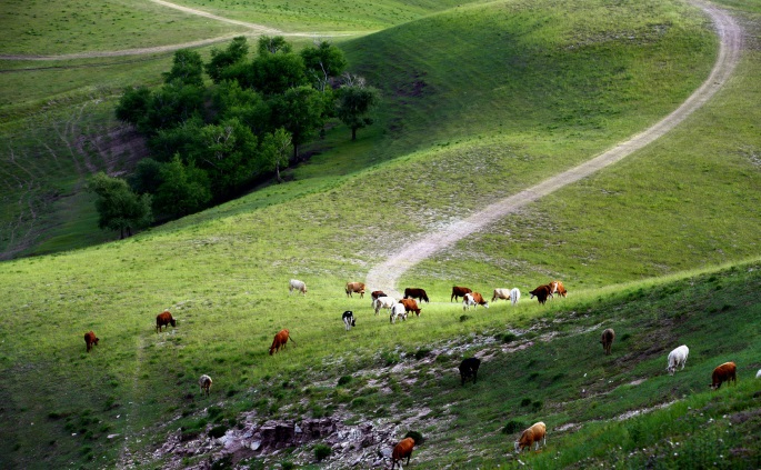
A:
<svg viewBox="0 0 761 470">
<path fill-rule="evenodd" d="M 421 469 L 759 468 L 761 11 L 721 3 L 747 47 L 710 102 L 622 162 L 412 267 L 399 286 L 369 286 L 425 288 L 432 302 L 395 324 L 368 297 L 347 298 L 346 282 L 675 109 L 715 60 L 701 10 L 664 0 L 186 1 L 287 32 L 350 32 L 334 41 L 383 104 L 357 141 L 331 126 L 289 182 L 121 241 L 98 230 L 83 187 L 97 170 L 132 168 L 108 146 L 129 131 L 113 107 L 123 87 L 160 83 L 171 53 L 1 62 L 0 468 L 352 464 L 339 449 L 317 461 L 320 439 L 234 462 L 156 453 L 178 432 L 240 429 L 244 414 L 397 432 L 368 456 L 417 430 L 425 441 L 410 467 Z M 6 54 L 241 31 L 150 1 L 0 8 L 12 26 L 0 37 L 18 38 L 0 42 Z M 209 58 L 210 47 L 200 51 Z M 307 296 L 289 294 L 294 278 Z M 529 299 L 551 279 L 568 298 Z M 447 300 L 454 284 L 488 300 L 494 288 L 523 297 L 463 311 Z M 178 326 L 157 333 L 164 309 Z M 344 310 L 358 318 L 349 332 Z M 270 357 L 282 328 L 296 344 Z M 608 357 L 604 328 L 617 331 Z M 100 338 L 90 353 L 89 330 Z M 690 357 L 670 377 L 667 356 L 680 344 Z M 462 387 L 457 366 L 472 356 L 479 380 Z M 739 383 L 711 391 L 725 361 L 738 363 Z M 202 373 L 214 381 L 208 399 Z M 515 457 L 512 442 L 540 420 L 547 448 Z"/>
</svg>

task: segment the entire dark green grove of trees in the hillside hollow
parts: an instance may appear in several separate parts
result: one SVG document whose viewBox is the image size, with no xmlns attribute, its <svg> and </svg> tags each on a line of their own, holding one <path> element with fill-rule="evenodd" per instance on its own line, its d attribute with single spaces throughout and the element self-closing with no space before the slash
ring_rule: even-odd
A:
<svg viewBox="0 0 761 470">
<path fill-rule="evenodd" d="M 282 181 L 280 170 L 330 119 L 354 140 L 372 123 L 380 93 L 346 69 L 343 52 L 327 41 L 297 53 L 282 37 L 261 37 L 249 59 L 239 37 L 212 50 L 208 63 L 177 51 L 160 88 L 129 88 L 119 100 L 117 118 L 146 136 L 150 158 L 126 182 L 91 180 L 100 227 L 123 238 L 154 216 L 168 220 L 229 200 L 262 177 Z"/>
</svg>

